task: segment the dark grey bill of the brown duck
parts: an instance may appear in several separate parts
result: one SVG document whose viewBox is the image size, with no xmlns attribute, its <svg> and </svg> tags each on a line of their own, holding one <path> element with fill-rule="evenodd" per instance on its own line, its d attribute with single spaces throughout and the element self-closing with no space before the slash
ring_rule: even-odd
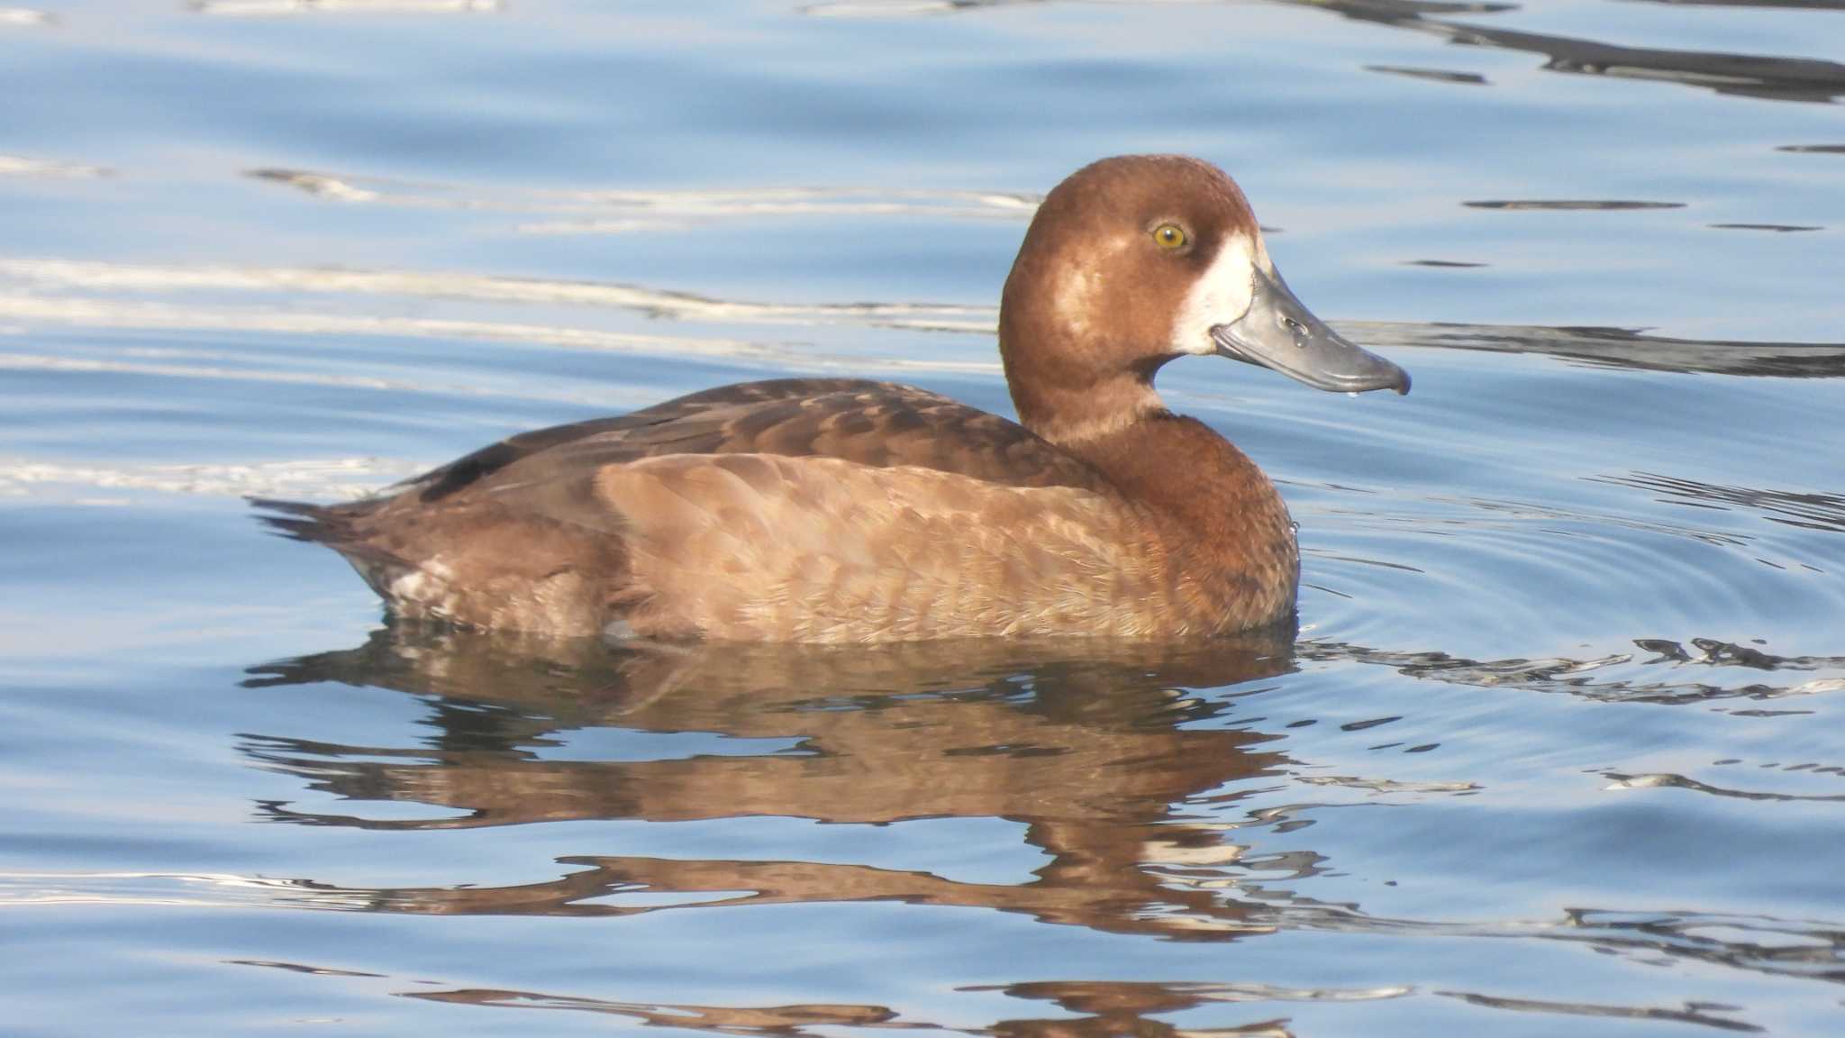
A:
<svg viewBox="0 0 1845 1038">
<path fill-rule="evenodd" d="M 1293 297 L 1279 273 L 1269 277 L 1256 270 L 1255 279 L 1249 310 L 1227 325 L 1210 329 L 1220 355 L 1273 368 L 1315 390 L 1410 392 L 1408 371 L 1339 338 Z"/>
</svg>

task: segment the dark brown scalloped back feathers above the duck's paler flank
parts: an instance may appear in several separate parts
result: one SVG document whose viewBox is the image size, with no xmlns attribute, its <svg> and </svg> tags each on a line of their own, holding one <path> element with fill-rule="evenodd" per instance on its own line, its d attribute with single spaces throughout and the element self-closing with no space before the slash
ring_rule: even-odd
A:
<svg viewBox="0 0 1845 1038">
<path fill-rule="evenodd" d="M 458 493 L 574 482 L 662 454 L 779 454 L 917 465 L 1004 486 L 1098 488 L 1092 467 L 1022 425 L 941 393 L 860 379 L 779 379 L 705 390 L 620 417 L 522 432 L 397 488 Z"/>
</svg>

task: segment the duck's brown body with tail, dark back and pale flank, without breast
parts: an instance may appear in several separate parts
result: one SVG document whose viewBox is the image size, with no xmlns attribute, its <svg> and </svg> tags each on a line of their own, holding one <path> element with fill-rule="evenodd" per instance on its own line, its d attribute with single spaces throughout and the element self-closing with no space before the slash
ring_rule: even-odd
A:
<svg viewBox="0 0 1845 1038">
<path fill-rule="evenodd" d="M 1146 635 L 1142 515 L 1089 464 L 937 393 L 694 393 L 494 443 L 387 497 L 288 508 L 400 613 L 554 635 Z"/>
</svg>

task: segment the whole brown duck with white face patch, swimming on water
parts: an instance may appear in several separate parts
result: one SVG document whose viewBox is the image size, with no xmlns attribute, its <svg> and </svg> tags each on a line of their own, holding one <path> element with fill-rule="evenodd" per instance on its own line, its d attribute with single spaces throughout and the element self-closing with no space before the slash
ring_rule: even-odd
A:
<svg viewBox="0 0 1845 1038">
<path fill-rule="evenodd" d="M 1288 288 L 1218 166 L 1070 174 L 1000 299 L 1017 421 L 865 379 L 720 386 L 343 504 L 258 501 L 395 617 L 613 641 L 1216 637 L 1295 621 L 1275 484 L 1153 388 L 1181 356 L 1410 392 Z"/>
</svg>

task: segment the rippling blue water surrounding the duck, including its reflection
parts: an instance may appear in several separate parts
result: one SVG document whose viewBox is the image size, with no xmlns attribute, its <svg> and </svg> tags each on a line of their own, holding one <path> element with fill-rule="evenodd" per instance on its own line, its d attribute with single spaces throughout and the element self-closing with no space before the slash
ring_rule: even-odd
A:
<svg viewBox="0 0 1845 1038">
<path fill-rule="evenodd" d="M 0 9 L 7 1032 L 1836 1034 L 1841 63 L 1825 2 Z M 1415 375 L 1162 375 L 1293 645 L 539 652 L 240 501 L 780 373 L 1006 410 L 1037 194 L 1142 150 Z"/>
</svg>

